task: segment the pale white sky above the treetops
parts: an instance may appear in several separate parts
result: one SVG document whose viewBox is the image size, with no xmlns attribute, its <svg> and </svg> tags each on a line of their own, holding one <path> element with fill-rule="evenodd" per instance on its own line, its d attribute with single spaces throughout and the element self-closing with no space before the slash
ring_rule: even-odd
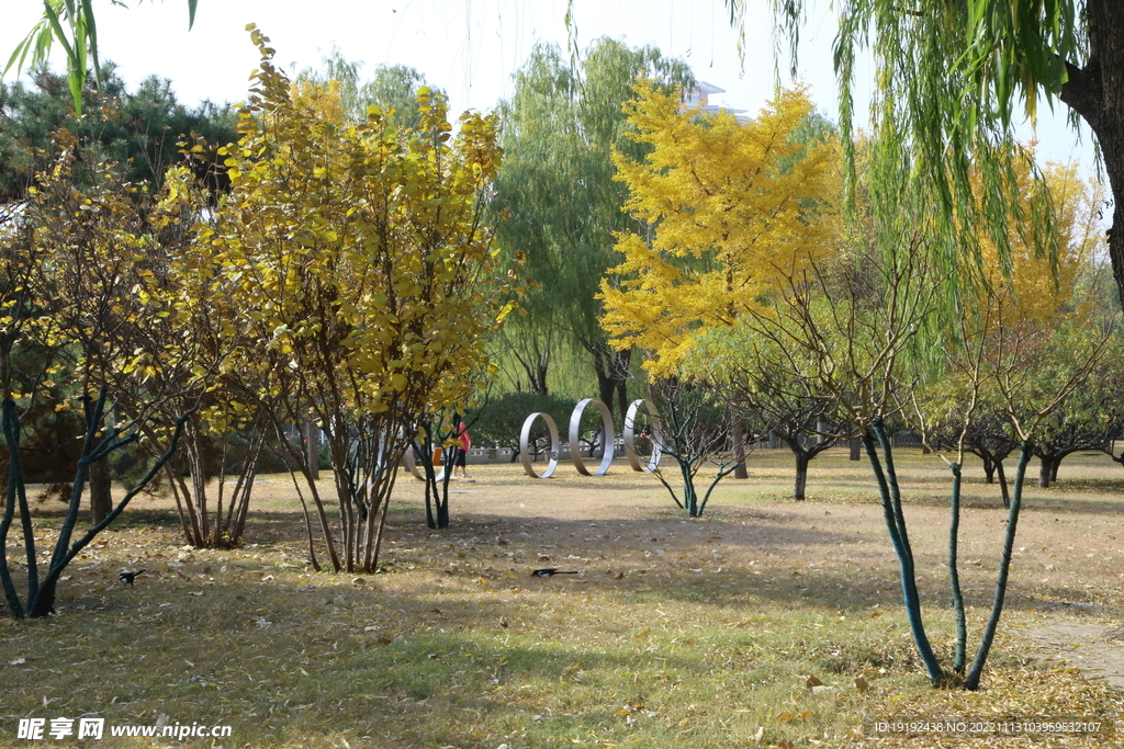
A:
<svg viewBox="0 0 1124 749">
<path fill-rule="evenodd" d="M 35 0 L 0 0 L 0 54 L 7 58 L 42 16 L 42 4 Z M 379 64 L 418 68 L 448 92 L 452 112 L 491 109 L 511 94 L 511 74 L 536 42 L 555 42 L 566 49 L 575 33 L 579 48 L 599 36 L 633 46 L 654 44 L 663 54 L 687 61 L 697 79 L 726 90 L 711 103 L 752 115 L 769 98 L 777 67 L 771 3 L 749 4 L 753 16 L 746 22 L 743 66 L 723 0 L 574 0 L 571 29 L 565 24 L 566 0 L 199 0 L 191 30 L 185 0 L 140 4 L 128 0 L 125 8 L 94 0 L 102 58 L 117 63 L 130 84 L 152 74 L 170 79 L 187 104 L 245 98 L 257 64 L 245 30 L 253 22 L 270 37 L 275 62 L 290 75 L 318 66 L 335 45 L 347 60 L 365 63 L 361 76 Z M 831 60 L 835 17 L 828 2 L 809 6 L 798 76 L 817 106 L 836 119 Z M 61 68 L 61 57 L 56 58 Z M 781 82 L 790 84 L 787 53 L 780 66 Z M 856 111 L 865 107 L 865 90 L 859 90 Z M 1077 144 L 1066 126 L 1064 107 L 1058 107 L 1057 116 L 1040 115 L 1036 134 L 1025 126 L 1023 137 L 1036 135 L 1044 158 L 1076 157 L 1091 165 L 1088 135 Z"/>
</svg>

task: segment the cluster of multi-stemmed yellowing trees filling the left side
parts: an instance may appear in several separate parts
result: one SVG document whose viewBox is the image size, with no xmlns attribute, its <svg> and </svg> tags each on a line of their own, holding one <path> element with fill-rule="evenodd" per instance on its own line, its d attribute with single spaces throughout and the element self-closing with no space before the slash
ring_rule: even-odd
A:
<svg viewBox="0 0 1124 749">
<path fill-rule="evenodd" d="M 327 437 L 341 518 L 328 522 L 309 481 L 321 548 L 336 570 L 373 572 L 417 422 L 464 401 L 473 373 L 488 369 L 484 334 L 510 311 L 517 278 L 481 221 L 499 166 L 496 118 L 463 118 L 454 139 L 442 98 L 422 89 L 416 129 L 399 130 L 375 104 L 351 122 L 332 116 L 343 111 L 332 86 L 294 88 L 269 40 L 252 36 L 261 68 L 238 140 L 217 150 L 227 194 L 216 200 L 190 168 L 203 144 L 185 143 L 187 165 L 151 192 L 128 163 L 98 158 L 64 128 L 54 154 L 37 156 L 47 166 L 25 200 L 6 207 L 0 548 L 18 508 L 26 597 L 6 559 L 0 582 L 17 616 L 51 612 L 65 566 L 161 468 L 190 541 L 239 544 L 262 433 L 280 438 L 309 410 Z M 21 412 L 42 401 L 76 410 L 85 438 L 40 576 L 19 446 Z M 224 506 L 220 482 L 212 504 L 208 438 L 247 424 L 257 444 L 235 497 Z M 88 477 L 126 446 L 155 462 L 72 540 Z M 307 457 L 297 453 L 285 457 Z M 307 460 L 294 468 L 310 478 Z M 318 564 L 311 523 L 309 545 Z"/>
</svg>

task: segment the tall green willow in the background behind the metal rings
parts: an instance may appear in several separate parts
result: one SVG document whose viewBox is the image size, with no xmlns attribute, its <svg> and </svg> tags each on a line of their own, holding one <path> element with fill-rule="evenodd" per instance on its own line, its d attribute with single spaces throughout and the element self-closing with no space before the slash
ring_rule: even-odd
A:
<svg viewBox="0 0 1124 749">
<path fill-rule="evenodd" d="M 526 255 L 537 287 L 525 295 L 525 318 L 514 321 L 509 344 L 544 340 L 555 330 L 562 346 L 588 355 L 602 402 L 624 419 L 628 347 L 614 348 L 598 323 L 604 309 L 598 284 L 613 266 L 614 234 L 633 230 L 623 210 L 627 190 L 614 180 L 614 150 L 641 159 L 650 147 L 628 137 L 622 106 L 635 94 L 637 75 L 670 91 L 694 85 L 686 64 L 654 47 L 632 49 L 601 38 L 571 67 L 554 45 L 536 45 L 516 73 L 515 94 L 502 102 L 504 167 L 492 208 L 497 240 L 511 256 Z M 528 335 L 517 335 L 529 328 Z M 545 387 L 549 358 L 533 347 L 517 349 Z M 544 392 L 544 391 L 540 391 Z"/>
</svg>

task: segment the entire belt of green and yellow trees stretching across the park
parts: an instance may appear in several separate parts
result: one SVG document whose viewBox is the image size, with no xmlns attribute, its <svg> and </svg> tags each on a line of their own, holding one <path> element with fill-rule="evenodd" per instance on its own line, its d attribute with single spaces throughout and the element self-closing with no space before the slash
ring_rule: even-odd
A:
<svg viewBox="0 0 1124 749">
<path fill-rule="evenodd" d="M 727 4 L 735 17 L 744 8 Z M 45 7 L 53 29 L 65 8 L 73 38 L 89 37 L 88 9 Z M 794 36 L 803 11 L 779 11 Z M 22 182 L 9 181 L 19 204 L 0 222 L 10 454 L 0 545 L 18 506 L 28 554 L 26 601 L 0 565 L 9 609 L 48 613 L 65 565 L 160 468 L 191 542 L 238 544 L 269 430 L 306 479 L 314 565 L 320 552 L 334 570 L 373 572 L 406 450 L 425 458 L 452 445 L 451 426 L 500 366 L 528 392 L 497 396 L 495 423 L 527 398 L 550 402 L 553 357 L 570 350 L 622 420 L 629 385 L 660 407 L 659 447 L 680 493 L 658 475 L 691 517 L 741 460 L 729 433 L 737 448 L 746 432 L 781 433 L 798 500 L 808 460 L 860 440 L 926 673 L 978 688 L 1031 458 L 1046 486 L 1067 455 L 1111 450 L 1124 424 L 1102 193 L 1073 166 L 1039 164 L 1010 130 L 1016 97 L 1031 111 L 1042 93 L 1060 97 L 1090 122 L 1122 189 L 1124 65 L 1106 71 L 1124 37 L 1104 34 L 1124 13 L 1085 11 L 1031 3 L 1041 24 L 1018 24 L 1001 3 L 847 4 L 839 135 L 801 90 L 778 90 L 747 122 L 683 111 L 695 84 L 685 64 L 600 39 L 573 63 L 536 46 L 511 100 L 466 113 L 454 136 L 444 95 L 415 72 L 383 67 L 360 84 L 336 54 L 294 84 L 256 29 L 262 63 L 236 143 L 212 152 L 189 138 L 188 165 L 166 172 L 142 146 L 151 173 L 137 173 L 92 135 L 56 129 Z M 846 92 L 868 29 L 883 73 L 872 131 L 858 137 Z M 85 52 L 70 53 L 72 73 L 84 73 Z M 221 185 L 200 179 L 218 173 Z M 1117 234 L 1108 270 L 1124 296 Z M 44 398 L 81 413 L 85 438 L 40 582 L 19 445 L 20 410 Z M 285 437 L 309 414 L 326 438 L 338 524 L 308 454 Z M 951 659 L 925 627 L 894 427 L 917 430 L 950 471 Z M 212 504 L 206 446 L 238 429 L 251 435 L 237 469 L 246 483 Z M 132 444 L 153 467 L 73 541 L 88 474 Z M 1008 512 L 973 657 L 958 575 L 969 453 L 998 474 Z M 708 460 L 715 477 L 699 492 Z M 442 528 L 447 477 L 438 495 L 432 465 L 426 476 L 428 521 Z"/>
</svg>

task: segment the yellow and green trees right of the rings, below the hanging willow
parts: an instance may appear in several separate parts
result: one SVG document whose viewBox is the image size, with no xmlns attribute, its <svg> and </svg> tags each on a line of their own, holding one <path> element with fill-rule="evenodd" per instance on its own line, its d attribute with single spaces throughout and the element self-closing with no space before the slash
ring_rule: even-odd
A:
<svg viewBox="0 0 1124 749">
<path fill-rule="evenodd" d="M 610 342 L 643 351 L 665 421 L 669 413 L 672 422 L 698 417 L 699 393 L 711 393 L 711 402 L 735 400 L 794 437 L 860 440 L 918 655 L 934 683 L 978 688 L 1031 457 L 1041 457 L 1049 481 L 1068 451 L 1103 446 L 1122 423 L 1120 320 L 1097 286 L 1097 191 L 1076 168 L 1040 170 L 1033 153 L 1019 149 L 1014 179 L 1000 185 L 1009 191 L 1001 202 L 1017 208 L 1007 235 L 992 239 L 980 227 L 972 262 L 943 246 L 971 227 L 946 232 L 915 200 L 909 159 L 855 144 L 860 181 L 849 205 L 835 138 L 801 137 L 810 104 L 800 91 L 779 92 L 755 120 L 740 124 L 682 112 L 678 97 L 651 82 L 636 90 L 626 107 L 629 137 L 651 150 L 638 161 L 615 155 L 626 210 L 641 228 L 617 235 L 624 261 L 611 273 L 619 281 L 601 284 Z M 971 175 L 967 189 L 985 186 Z M 892 199 L 897 211 L 870 210 L 876 199 Z M 1048 211 L 1051 222 L 1030 220 Z M 945 660 L 925 629 L 891 420 L 921 431 L 950 469 L 946 567 L 957 639 Z M 665 439 L 683 433 L 674 426 Z M 1005 440 L 1017 467 L 995 599 L 972 656 L 958 575 L 961 466 L 988 440 Z M 687 457 L 707 449 L 697 442 L 694 455 L 674 456 L 691 515 L 709 491 L 698 497 Z M 797 451 L 798 472 L 801 457 L 806 465 Z M 992 465 L 1003 457 L 990 454 Z"/>
</svg>

